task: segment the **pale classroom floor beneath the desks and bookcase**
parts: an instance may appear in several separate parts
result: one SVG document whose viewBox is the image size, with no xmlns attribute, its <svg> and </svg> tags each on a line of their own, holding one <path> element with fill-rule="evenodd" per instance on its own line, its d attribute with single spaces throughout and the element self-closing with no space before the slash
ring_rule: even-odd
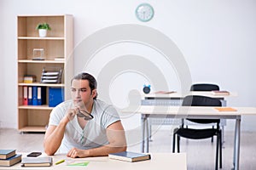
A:
<svg viewBox="0 0 256 170">
<path fill-rule="evenodd" d="M 138 132 L 139 133 L 139 132 Z M 140 151 L 140 144 L 127 136 L 128 150 Z M 0 128 L 0 148 L 16 149 L 17 152 L 44 151 L 44 133 L 19 133 L 15 129 Z M 188 170 L 212 170 L 215 166 L 215 141 L 203 140 L 181 140 L 181 151 L 187 152 Z M 133 143 L 133 144 L 132 144 Z M 234 133 L 224 133 L 223 168 L 231 169 L 233 162 Z M 241 132 L 240 169 L 256 169 L 256 132 Z M 159 130 L 154 132 L 150 142 L 149 152 L 171 152 L 172 133 L 171 130 Z M 172 165 L 170 165 L 172 169 Z"/>
</svg>

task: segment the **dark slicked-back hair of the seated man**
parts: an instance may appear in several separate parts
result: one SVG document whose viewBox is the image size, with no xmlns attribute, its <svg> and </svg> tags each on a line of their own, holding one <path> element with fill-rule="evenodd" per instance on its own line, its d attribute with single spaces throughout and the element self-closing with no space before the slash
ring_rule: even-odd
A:
<svg viewBox="0 0 256 170">
<path fill-rule="evenodd" d="M 95 77 L 91 76 L 89 73 L 86 73 L 86 72 L 79 73 L 77 76 L 73 77 L 73 79 L 71 80 L 71 83 L 73 82 L 73 80 L 88 80 L 90 93 L 92 93 L 92 90 L 97 88 L 97 82 Z M 96 96 L 93 99 L 96 99 L 97 95 L 98 94 L 96 94 Z"/>
</svg>

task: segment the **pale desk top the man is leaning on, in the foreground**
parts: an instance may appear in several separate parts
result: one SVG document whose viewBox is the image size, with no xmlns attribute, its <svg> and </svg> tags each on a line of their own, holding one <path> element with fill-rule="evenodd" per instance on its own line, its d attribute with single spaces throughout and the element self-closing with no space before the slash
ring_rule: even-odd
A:
<svg viewBox="0 0 256 170">
<path fill-rule="evenodd" d="M 22 156 L 26 156 L 23 154 Z M 155 153 L 151 154 L 151 160 L 148 161 L 137 161 L 127 162 L 108 159 L 108 156 L 101 157 L 88 157 L 88 158 L 68 158 L 66 155 L 56 155 L 53 157 L 53 166 L 51 167 L 20 167 L 20 163 L 15 164 L 12 167 L 0 167 L 0 169 L 90 169 L 90 170 L 170 170 L 170 167 L 175 170 L 186 170 L 187 169 L 187 158 L 185 153 Z M 64 159 L 63 163 L 55 165 L 56 161 Z M 89 164 L 84 166 L 67 166 L 67 162 L 84 162 L 89 161 Z"/>
</svg>

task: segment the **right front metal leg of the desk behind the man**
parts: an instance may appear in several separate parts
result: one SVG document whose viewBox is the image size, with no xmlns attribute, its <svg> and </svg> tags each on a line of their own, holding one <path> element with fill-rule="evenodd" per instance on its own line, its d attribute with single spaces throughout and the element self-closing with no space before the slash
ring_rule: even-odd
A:
<svg viewBox="0 0 256 170">
<path fill-rule="evenodd" d="M 241 130 L 241 117 L 236 118 L 235 129 L 235 144 L 234 144 L 234 169 L 239 170 L 239 156 L 240 156 L 240 130 Z"/>
</svg>

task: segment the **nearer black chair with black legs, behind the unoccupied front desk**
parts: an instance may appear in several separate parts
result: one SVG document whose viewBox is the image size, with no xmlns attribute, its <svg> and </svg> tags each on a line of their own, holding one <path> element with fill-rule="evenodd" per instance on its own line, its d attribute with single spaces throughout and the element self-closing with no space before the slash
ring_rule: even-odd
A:
<svg viewBox="0 0 256 170">
<path fill-rule="evenodd" d="M 213 99 L 206 96 L 197 96 L 197 95 L 189 95 L 183 99 L 183 106 L 221 106 L 221 102 L 219 99 Z M 213 136 L 217 136 L 217 144 L 216 144 L 216 163 L 215 169 L 218 169 L 218 154 L 219 154 L 219 167 L 222 167 L 222 143 L 221 143 L 221 128 L 219 127 L 219 119 L 189 119 L 191 122 L 196 123 L 216 123 L 216 128 L 188 128 L 181 127 L 175 128 L 173 130 L 173 141 L 172 141 L 172 152 L 175 152 L 175 141 L 177 136 L 177 152 L 180 151 L 180 138 L 187 139 L 207 139 L 212 138 Z"/>
</svg>

